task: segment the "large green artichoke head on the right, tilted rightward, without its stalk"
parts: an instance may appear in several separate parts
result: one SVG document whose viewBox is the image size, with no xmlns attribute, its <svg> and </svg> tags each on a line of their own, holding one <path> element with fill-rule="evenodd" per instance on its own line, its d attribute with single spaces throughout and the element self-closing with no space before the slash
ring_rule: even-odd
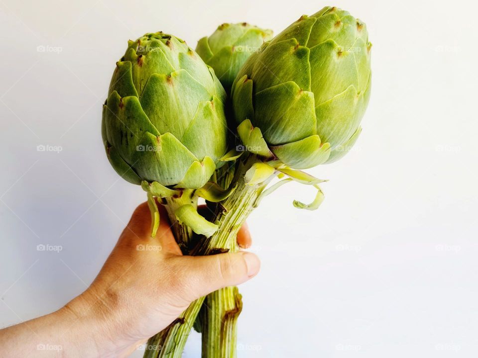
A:
<svg viewBox="0 0 478 358">
<path fill-rule="evenodd" d="M 365 24 L 336 7 L 302 16 L 265 43 L 232 89 L 245 149 L 294 169 L 344 156 L 370 95 L 370 48 Z"/>
</svg>

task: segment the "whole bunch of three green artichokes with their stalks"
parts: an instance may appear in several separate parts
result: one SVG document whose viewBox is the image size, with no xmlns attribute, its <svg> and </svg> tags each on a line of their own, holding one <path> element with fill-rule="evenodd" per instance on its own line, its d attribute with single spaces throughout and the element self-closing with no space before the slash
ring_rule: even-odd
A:
<svg viewBox="0 0 478 358">
<path fill-rule="evenodd" d="M 312 203 L 294 201 L 316 209 L 324 180 L 300 170 L 337 161 L 357 141 L 370 48 L 365 24 L 336 7 L 304 15 L 273 38 L 247 23 L 222 24 L 196 51 L 163 32 L 129 41 L 102 134 L 113 168 L 147 192 L 152 234 L 163 204 L 185 254 L 238 250 L 237 232 L 253 208 L 291 181 L 317 189 Z M 282 180 L 269 185 L 274 178 Z M 198 197 L 214 212 L 209 220 L 197 212 Z M 236 357 L 241 308 L 237 287 L 193 302 L 151 338 L 145 357 L 181 357 L 193 325 L 203 357 Z"/>
</svg>

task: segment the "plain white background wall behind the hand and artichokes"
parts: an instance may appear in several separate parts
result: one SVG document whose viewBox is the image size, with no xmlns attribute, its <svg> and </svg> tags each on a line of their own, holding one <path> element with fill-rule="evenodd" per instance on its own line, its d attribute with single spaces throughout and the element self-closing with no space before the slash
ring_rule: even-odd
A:
<svg viewBox="0 0 478 358">
<path fill-rule="evenodd" d="M 242 21 L 278 33 L 325 5 L 0 0 L 0 326 L 82 292 L 145 199 L 100 134 L 126 40 L 163 30 L 195 47 Z M 295 209 L 313 193 L 288 184 L 250 217 L 262 269 L 240 287 L 239 357 L 477 357 L 478 6 L 335 5 L 373 43 L 363 132 L 343 160 L 310 170 L 330 179 L 317 211 Z M 199 352 L 194 333 L 184 357 Z"/>
</svg>

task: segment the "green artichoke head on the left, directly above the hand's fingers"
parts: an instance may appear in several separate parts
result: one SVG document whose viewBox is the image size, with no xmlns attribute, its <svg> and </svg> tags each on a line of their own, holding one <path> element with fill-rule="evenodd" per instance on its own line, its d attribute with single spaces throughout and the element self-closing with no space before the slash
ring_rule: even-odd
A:
<svg viewBox="0 0 478 358">
<path fill-rule="evenodd" d="M 185 41 L 163 32 L 128 41 L 103 106 L 108 158 L 124 179 L 195 189 L 227 149 L 226 92 Z"/>
</svg>

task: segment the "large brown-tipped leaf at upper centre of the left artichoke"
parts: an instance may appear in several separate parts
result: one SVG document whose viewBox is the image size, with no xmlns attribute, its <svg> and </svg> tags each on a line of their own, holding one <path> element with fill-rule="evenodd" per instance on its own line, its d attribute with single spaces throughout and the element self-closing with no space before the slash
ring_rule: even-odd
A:
<svg viewBox="0 0 478 358">
<path fill-rule="evenodd" d="M 181 138 L 196 114 L 198 103 L 211 99 L 203 85 L 186 70 L 179 70 L 170 76 L 152 74 L 140 102 L 160 133 L 170 132 Z"/>
</svg>

